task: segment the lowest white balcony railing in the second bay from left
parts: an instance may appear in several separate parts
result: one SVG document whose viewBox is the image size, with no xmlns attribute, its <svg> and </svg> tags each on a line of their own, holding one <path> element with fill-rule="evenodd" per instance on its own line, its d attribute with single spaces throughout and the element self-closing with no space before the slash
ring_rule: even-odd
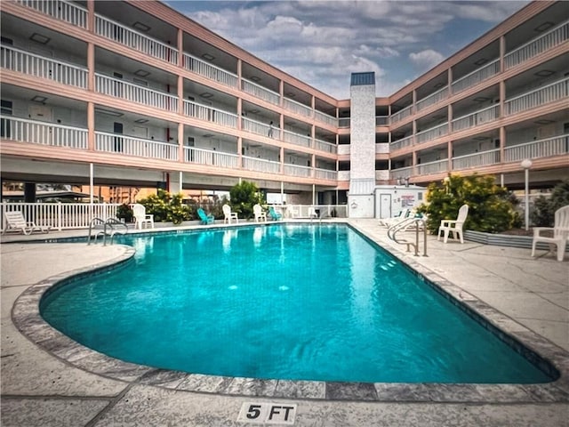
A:
<svg viewBox="0 0 569 427">
<path fill-rule="evenodd" d="M 95 132 L 95 149 L 126 156 L 178 160 L 177 144 L 133 138 L 117 133 Z"/>
</svg>

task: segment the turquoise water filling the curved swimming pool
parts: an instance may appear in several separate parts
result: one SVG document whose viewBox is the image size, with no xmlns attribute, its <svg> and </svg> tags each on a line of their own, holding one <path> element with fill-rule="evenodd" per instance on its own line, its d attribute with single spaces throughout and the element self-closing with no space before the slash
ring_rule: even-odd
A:
<svg viewBox="0 0 569 427">
<path fill-rule="evenodd" d="M 46 294 L 43 317 L 126 361 L 206 375 L 397 383 L 551 379 L 342 224 L 124 240 L 124 268 Z"/>
</svg>

